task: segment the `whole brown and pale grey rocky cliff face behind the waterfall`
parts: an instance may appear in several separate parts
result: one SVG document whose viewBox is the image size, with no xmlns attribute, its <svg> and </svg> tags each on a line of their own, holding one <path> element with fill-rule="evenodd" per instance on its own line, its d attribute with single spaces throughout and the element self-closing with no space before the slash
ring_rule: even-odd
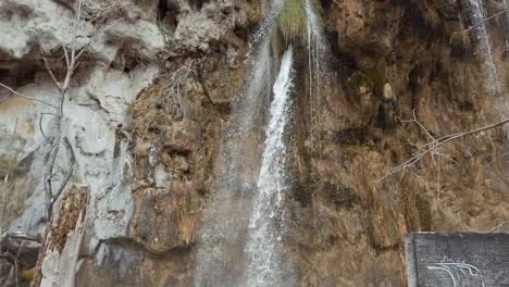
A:
<svg viewBox="0 0 509 287">
<path fill-rule="evenodd" d="M 319 2 L 330 82 L 310 102 L 312 67 L 297 45 L 297 70 L 306 73 L 293 95 L 286 208 L 294 224 L 285 241 L 299 286 L 405 286 L 405 233 L 486 230 L 509 216 L 500 128 L 386 176 L 431 137 L 507 117 L 509 23 L 486 22 L 494 74 L 484 39 L 464 33 L 479 27 L 472 1 Z M 57 103 L 41 59 L 60 76 L 61 47 L 74 42 L 84 51 L 63 129 L 77 162 L 71 180 L 90 190 L 76 285 L 191 286 L 221 135 L 245 82 L 248 37 L 269 3 L 85 3 L 76 37 L 74 1 L 0 3 L 0 83 Z M 500 11 L 496 1 L 482 7 L 485 15 Z M 15 165 L 3 189 L 3 230 L 42 233 L 51 110 L 2 88 L 0 111 L 0 175 L 8 159 Z M 401 123 L 412 111 L 429 134 Z M 58 167 L 69 161 L 61 151 Z"/>
</svg>

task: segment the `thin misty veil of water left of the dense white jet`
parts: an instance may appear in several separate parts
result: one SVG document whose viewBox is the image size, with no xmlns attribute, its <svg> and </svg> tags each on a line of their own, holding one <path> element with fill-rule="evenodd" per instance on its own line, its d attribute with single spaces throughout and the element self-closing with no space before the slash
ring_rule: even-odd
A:
<svg viewBox="0 0 509 287">
<path fill-rule="evenodd" d="M 254 194 L 259 154 L 257 135 L 263 118 L 262 109 L 271 91 L 271 58 L 269 36 L 282 1 L 274 0 L 268 15 L 250 39 L 250 72 L 243 93 L 236 97 L 232 118 L 221 142 L 203 224 L 197 234 L 194 285 L 240 286 L 244 242 L 250 215 L 250 194 Z M 252 180 L 251 180 L 252 178 Z M 250 184 L 252 182 L 252 184 Z M 238 270 L 240 269 L 240 270 Z"/>
</svg>

